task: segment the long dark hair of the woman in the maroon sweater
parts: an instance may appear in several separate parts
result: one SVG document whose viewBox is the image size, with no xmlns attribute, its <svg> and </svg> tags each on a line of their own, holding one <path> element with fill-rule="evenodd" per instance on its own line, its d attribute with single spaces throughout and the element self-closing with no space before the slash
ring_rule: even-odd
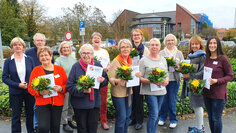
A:
<svg viewBox="0 0 236 133">
<path fill-rule="evenodd" d="M 211 57 L 211 52 L 210 52 L 210 49 L 209 49 L 209 44 L 210 44 L 210 41 L 212 39 L 215 39 L 216 40 L 216 43 L 217 43 L 217 57 L 221 56 L 221 55 L 224 55 L 224 52 L 222 50 L 222 46 L 221 46 L 221 43 L 220 43 L 220 39 L 218 37 L 210 37 L 208 40 L 207 40 L 207 46 L 206 46 L 206 57 L 207 59 L 209 59 Z"/>
</svg>

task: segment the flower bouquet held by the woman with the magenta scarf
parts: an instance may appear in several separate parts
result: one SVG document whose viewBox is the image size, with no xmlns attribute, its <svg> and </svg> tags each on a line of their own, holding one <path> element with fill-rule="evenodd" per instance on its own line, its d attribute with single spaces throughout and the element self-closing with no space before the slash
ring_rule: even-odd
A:
<svg viewBox="0 0 236 133">
<path fill-rule="evenodd" d="M 93 88 L 95 79 L 89 76 L 80 76 L 76 83 L 76 88 L 79 92 L 84 92 L 84 90 L 88 90 L 89 88 Z"/>
</svg>

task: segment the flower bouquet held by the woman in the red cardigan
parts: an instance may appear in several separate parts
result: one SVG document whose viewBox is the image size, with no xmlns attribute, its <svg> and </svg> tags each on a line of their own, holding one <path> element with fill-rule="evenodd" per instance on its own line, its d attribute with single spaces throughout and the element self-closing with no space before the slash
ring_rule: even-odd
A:
<svg viewBox="0 0 236 133">
<path fill-rule="evenodd" d="M 32 81 L 32 88 L 37 91 L 44 91 L 44 90 L 53 90 L 52 87 L 49 85 L 51 84 L 51 80 L 44 78 L 44 77 L 38 77 L 33 79 Z M 51 91 L 49 91 L 48 95 L 52 94 Z"/>
</svg>

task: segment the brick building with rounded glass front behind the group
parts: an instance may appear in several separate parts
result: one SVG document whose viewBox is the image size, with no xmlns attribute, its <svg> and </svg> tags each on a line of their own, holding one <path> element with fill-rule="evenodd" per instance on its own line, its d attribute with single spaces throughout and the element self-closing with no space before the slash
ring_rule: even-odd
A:
<svg viewBox="0 0 236 133">
<path fill-rule="evenodd" d="M 176 4 L 176 11 L 156 13 L 141 14 L 125 9 L 112 26 L 116 40 L 129 38 L 131 30 L 135 28 L 145 31 L 148 38 L 164 38 L 169 33 L 198 34 L 200 24 L 203 23 L 201 20 L 205 20 L 199 18 L 202 18 L 201 14 L 194 15 L 186 8 Z M 209 20 L 209 22 L 211 21 Z"/>
</svg>

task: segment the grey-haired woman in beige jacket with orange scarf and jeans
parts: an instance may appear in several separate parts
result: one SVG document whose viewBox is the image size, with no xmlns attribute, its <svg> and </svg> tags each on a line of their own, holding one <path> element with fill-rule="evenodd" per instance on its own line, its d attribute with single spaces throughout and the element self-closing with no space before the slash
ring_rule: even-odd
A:
<svg viewBox="0 0 236 133">
<path fill-rule="evenodd" d="M 129 117 L 131 114 L 132 89 L 126 87 L 126 81 L 116 77 L 116 70 L 123 65 L 132 66 L 133 62 L 129 54 L 132 44 L 128 39 L 122 39 L 118 43 L 120 54 L 112 61 L 109 80 L 111 83 L 112 101 L 116 110 L 115 133 L 127 133 Z M 140 72 L 136 73 L 141 76 Z"/>
</svg>

